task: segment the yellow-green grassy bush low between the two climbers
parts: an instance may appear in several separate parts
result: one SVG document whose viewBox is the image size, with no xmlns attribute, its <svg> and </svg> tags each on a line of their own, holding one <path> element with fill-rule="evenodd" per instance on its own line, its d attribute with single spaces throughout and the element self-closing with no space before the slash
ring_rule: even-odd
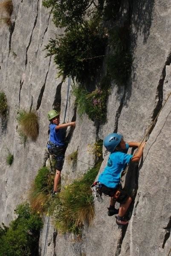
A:
<svg viewBox="0 0 171 256">
<path fill-rule="evenodd" d="M 57 195 L 49 209 L 54 224 L 62 233 L 81 233 L 84 224 L 91 225 L 94 204 L 90 185 L 94 182 L 101 162 L 90 169 L 80 180 L 65 186 Z"/>
</svg>

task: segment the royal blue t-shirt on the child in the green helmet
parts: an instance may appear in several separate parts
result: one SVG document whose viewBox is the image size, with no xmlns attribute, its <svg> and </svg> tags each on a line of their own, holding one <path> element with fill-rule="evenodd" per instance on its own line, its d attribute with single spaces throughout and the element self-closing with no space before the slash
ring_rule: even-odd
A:
<svg viewBox="0 0 171 256">
<path fill-rule="evenodd" d="M 56 127 L 55 124 L 49 125 L 49 128 L 50 128 L 49 141 L 51 141 L 55 145 L 63 146 L 63 145 L 65 145 L 64 131 L 62 131 L 63 129 L 56 130 L 55 127 Z M 47 145 L 47 147 L 51 148 L 50 145 Z"/>
</svg>

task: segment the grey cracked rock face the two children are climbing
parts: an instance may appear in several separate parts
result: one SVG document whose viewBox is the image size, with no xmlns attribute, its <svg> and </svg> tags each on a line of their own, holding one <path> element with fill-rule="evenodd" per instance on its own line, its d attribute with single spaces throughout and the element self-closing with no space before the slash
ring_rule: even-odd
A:
<svg viewBox="0 0 171 256">
<path fill-rule="evenodd" d="M 76 127 L 68 130 L 66 157 L 78 150 L 79 161 L 73 168 L 65 160 L 63 180 L 79 177 L 94 164 L 87 145 L 95 143 L 97 137 L 103 139 L 118 131 L 126 141 L 140 141 L 171 92 L 171 2 L 129 2 L 125 13 L 131 20 L 132 77 L 125 87 L 113 84 L 107 103 L 108 122 L 99 130 L 86 115 L 79 118 L 75 99 L 70 96 L 66 122 L 76 119 Z M 0 119 L 0 222 L 5 224 L 14 218 L 16 205 L 26 199 L 32 180 L 46 161 L 46 113 L 60 105 L 63 122 L 67 102 L 67 81 L 55 79 L 53 59 L 44 58 L 43 51 L 49 38 L 62 31 L 53 25 L 52 15 L 41 0 L 14 0 L 13 5 L 12 26 L 0 26 L 0 90 L 6 93 L 9 105 L 8 120 Z M 20 143 L 15 120 L 22 108 L 37 111 L 40 124 L 38 140 L 28 141 L 25 147 Z M 95 201 L 94 226 L 84 228 L 81 240 L 59 234 L 46 217 L 40 237 L 42 256 L 167 255 L 171 247 L 170 124 L 171 98 L 151 131 L 139 169 L 130 166 L 125 177 L 130 192 L 141 192 L 128 228 L 118 229 L 115 218 L 107 216 L 109 199 L 104 198 L 101 204 Z M 7 148 L 14 154 L 10 167 L 6 165 Z M 107 163 L 108 155 L 104 153 L 100 172 Z"/>
</svg>

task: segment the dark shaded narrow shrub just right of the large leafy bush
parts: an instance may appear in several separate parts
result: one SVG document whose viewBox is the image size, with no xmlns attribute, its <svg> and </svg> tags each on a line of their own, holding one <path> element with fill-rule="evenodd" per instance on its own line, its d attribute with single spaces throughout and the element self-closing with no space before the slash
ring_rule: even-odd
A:
<svg viewBox="0 0 171 256">
<path fill-rule="evenodd" d="M 111 80 L 123 85 L 131 73 L 132 55 L 128 50 L 128 30 L 124 28 L 110 31 L 110 45 L 113 53 L 107 56 L 107 74 Z"/>
</svg>

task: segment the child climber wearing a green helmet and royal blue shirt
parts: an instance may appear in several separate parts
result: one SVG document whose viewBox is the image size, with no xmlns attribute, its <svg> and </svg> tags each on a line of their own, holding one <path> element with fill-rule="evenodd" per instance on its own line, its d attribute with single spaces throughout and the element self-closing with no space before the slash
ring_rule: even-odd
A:
<svg viewBox="0 0 171 256">
<path fill-rule="evenodd" d="M 65 143 L 65 132 L 63 128 L 67 128 L 68 126 L 74 126 L 75 122 L 69 122 L 66 124 L 59 124 L 60 115 L 57 111 L 51 110 L 47 113 L 48 119 L 50 121 L 49 129 L 49 141 L 47 143 L 47 148 L 50 154 L 55 156 L 55 168 L 56 174 L 54 179 L 54 189 L 53 193 L 57 193 L 58 181 L 61 177 L 61 170 L 64 163 L 65 151 L 67 145 Z"/>
</svg>

